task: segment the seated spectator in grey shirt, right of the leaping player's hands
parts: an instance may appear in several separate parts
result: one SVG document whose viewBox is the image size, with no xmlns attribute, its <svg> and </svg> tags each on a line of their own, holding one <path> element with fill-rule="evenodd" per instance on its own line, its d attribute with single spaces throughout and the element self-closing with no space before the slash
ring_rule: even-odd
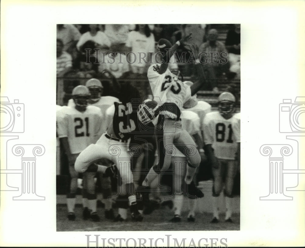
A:
<svg viewBox="0 0 305 248">
<path fill-rule="evenodd" d="M 226 48 L 221 41 L 217 41 L 218 32 L 216 29 L 210 29 L 207 34 L 207 42 L 203 43 L 199 47 L 199 53 L 205 52 L 206 54 L 202 54 L 201 61 L 204 58 L 207 59 L 208 63 L 205 64 L 206 76 L 209 79 L 210 90 L 218 91 L 217 88 L 217 79 L 221 78 L 223 73 L 228 71 L 229 64 L 221 64 L 219 61 L 221 60 L 221 53 L 226 52 Z M 216 52 L 217 56 L 213 53 Z M 224 57 L 222 55 L 222 57 Z M 215 63 L 216 61 L 217 63 Z"/>
</svg>

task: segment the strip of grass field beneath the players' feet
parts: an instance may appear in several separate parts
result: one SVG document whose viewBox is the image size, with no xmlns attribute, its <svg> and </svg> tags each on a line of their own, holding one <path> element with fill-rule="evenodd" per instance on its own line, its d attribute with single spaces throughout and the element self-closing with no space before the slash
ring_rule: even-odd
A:
<svg viewBox="0 0 305 248">
<path fill-rule="evenodd" d="M 98 208 L 101 221 L 93 222 L 82 219 L 82 207 L 75 207 L 75 221 L 67 219 L 65 204 L 56 206 L 57 231 L 208 231 L 208 230 L 240 230 L 239 214 L 234 214 L 234 223 L 224 222 L 224 215 L 220 216 L 219 223 L 210 223 L 212 213 L 196 213 L 196 221 L 187 221 L 187 212 L 182 213 L 181 222 L 173 223 L 169 220 L 173 217 L 173 210 L 161 207 L 149 215 L 144 215 L 142 222 L 133 222 L 128 216 L 124 222 L 113 222 L 104 218 L 104 209 Z"/>
</svg>

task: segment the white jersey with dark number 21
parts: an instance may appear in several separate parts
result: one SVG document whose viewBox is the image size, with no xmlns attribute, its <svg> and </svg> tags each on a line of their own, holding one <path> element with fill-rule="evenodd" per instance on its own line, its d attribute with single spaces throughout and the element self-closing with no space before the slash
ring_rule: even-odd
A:
<svg viewBox="0 0 305 248">
<path fill-rule="evenodd" d="M 88 106 L 85 112 L 64 106 L 57 121 L 58 137 L 68 137 L 71 154 L 77 154 L 98 140 L 102 112 L 95 106 Z"/>
</svg>

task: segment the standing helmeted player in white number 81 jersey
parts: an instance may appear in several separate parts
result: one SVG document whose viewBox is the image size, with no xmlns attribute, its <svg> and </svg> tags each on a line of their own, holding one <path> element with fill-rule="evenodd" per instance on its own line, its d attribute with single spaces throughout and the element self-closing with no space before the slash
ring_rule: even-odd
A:
<svg viewBox="0 0 305 248">
<path fill-rule="evenodd" d="M 224 92 L 218 97 L 218 111 L 206 114 L 203 120 L 204 142 L 214 177 L 212 223 L 219 222 L 219 195 L 223 188 L 226 200 L 225 221 L 232 222 L 232 190 L 238 167 L 236 156 L 240 147 L 240 121 L 234 116 L 234 108 L 235 97 Z"/>
</svg>

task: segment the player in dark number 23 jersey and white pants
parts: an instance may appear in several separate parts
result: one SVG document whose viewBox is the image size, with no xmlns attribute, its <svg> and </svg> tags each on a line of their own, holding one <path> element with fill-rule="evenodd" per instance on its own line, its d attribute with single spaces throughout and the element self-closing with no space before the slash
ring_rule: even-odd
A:
<svg viewBox="0 0 305 248">
<path fill-rule="evenodd" d="M 120 100 L 115 102 L 114 106 L 107 109 L 107 115 L 112 115 L 107 131 L 102 134 L 95 144 L 89 145 L 77 157 L 75 169 L 77 172 L 102 172 L 105 173 L 107 167 L 96 163 L 100 159 L 109 159 L 116 166 L 120 174 L 119 182 L 122 184 L 124 194 L 117 202 L 119 204 L 118 221 L 126 220 L 127 206 L 129 203 L 131 218 L 134 221 L 142 221 L 143 215 L 139 213 L 137 206 L 137 197 L 133 184 L 133 175 L 131 173 L 132 156 L 128 151 L 128 140 L 132 138 L 132 132 L 137 129 L 137 111 L 139 101 L 133 103 L 132 99 L 140 99 L 138 90 L 135 87 L 125 83 L 121 85 Z M 112 110 L 112 113 L 110 113 Z M 134 111 L 135 110 L 135 111 Z M 122 160 L 123 159 L 123 160 Z M 121 178 L 121 179 L 120 179 Z M 127 201 L 126 201 L 127 197 Z"/>
</svg>

